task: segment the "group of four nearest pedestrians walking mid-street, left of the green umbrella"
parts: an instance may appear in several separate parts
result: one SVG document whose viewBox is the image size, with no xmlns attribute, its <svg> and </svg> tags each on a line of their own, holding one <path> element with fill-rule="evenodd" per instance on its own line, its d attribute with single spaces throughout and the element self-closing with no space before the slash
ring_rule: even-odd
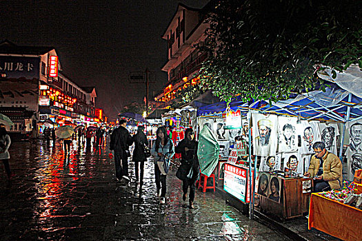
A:
<svg viewBox="0 0 362 241">
<path fill-rule="evenodd" d="M 130 145 L 134 143 L 132 162 L 134 162 L 136 181 L 139 181 L 140 187 L 143 185 L 144 146 L 148 146 L 148 140 L 144 133 L 144 127 L 137 127 L 137 134 L 131 137 L 125 128 L 125 120 L 121 120 L 119 127 L 113 130 L 110 136 L 110 150 L 114 153 L 114 164 L 116 168 L 116 177 L 118 180 L 130 181 L 128 174 L 128 158 L 130 157 Z M 159 127 L 156 132 L 157 138 L 151 148 L 151 155 L 154 161 L 154 179 L 157 187 L 157 196 L 159 203 L 165 204 L 165 195 L 167 191 L 167 175 L 170 169 L 170 162 L 175 153 L 181 154 L 181 165 L 185 166 L 185 176 L 183 177 L 183 201 L 187 198 L 188 189 L 189 207 L 194 208 L 194 196 L 196 182 L 199 179 L 199 159 L 197 158 L 198 143 L 194 140 L 194 132 L 191 128 L 185 130 L 185 138 L 181 140 L 177 147 L 168 135 L 165 127 Z"/>
</svg>

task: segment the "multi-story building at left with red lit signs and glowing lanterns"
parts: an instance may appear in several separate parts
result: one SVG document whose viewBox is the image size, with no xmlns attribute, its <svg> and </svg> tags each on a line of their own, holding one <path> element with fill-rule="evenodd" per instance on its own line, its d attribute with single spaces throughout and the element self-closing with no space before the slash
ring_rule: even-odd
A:
<svg viewBox="0 0 362 241">
<path fill-rule="evenodd" d="M 94 87 L 79 87 L 61 72 L 53 47 L 0 43 L 0 113 L 14 123 L 10 133 L 25 134 L 47 119 L 94 122 L 95 98 Z"/>
</svg>

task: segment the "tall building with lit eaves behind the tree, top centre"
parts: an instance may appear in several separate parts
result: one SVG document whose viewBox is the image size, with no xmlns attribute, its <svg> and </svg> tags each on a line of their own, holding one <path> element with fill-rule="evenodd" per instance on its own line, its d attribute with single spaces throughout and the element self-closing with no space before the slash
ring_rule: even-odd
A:
<svg viewBox="0 0 362 241">
<path fill-rule="evenodd" d="M 205 10 L 189 8 L 181 3 L 177 7 L 168 28 L 162 38 L 168 42 L 168 61 L 162 70 L 168 72 L 168 83 L 163 92 L 158 94 L 154 101 L 162 101 L 163 107 L 172 103 L 177 92 L 190 85 L 197 85 L 199 78 L 197 73 L 201 63 L 208 58 L 208 53 L 199 52 L 195 45 L 202 45 L 206 39 Z"/>
</svg>

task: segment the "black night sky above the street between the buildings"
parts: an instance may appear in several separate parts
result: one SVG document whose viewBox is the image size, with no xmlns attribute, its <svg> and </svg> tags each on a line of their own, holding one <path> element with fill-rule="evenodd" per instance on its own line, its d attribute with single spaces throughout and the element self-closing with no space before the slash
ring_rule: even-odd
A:
<svg viewBox="0 0 362 241">
<path fill-rule="evenodd" d="M 63 73 L 80 86 L 95 86 L 97 107 L 114 118 L 145 96 L 144 84 L 128 83 L 130 72 L 156 72 L 150 99 L 165 85 L 161 35 L 178 3 L 202 8 L 208 0 L 0 1 L 0 41 L 54 47 Z"/>
</svg>

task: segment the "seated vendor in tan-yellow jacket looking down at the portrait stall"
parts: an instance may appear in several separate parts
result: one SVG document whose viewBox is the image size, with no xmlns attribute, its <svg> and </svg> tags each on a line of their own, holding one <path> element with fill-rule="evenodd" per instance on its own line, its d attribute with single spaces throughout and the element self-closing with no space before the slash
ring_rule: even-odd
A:
<svg viewBox="0 0 362 241">
<path fill-rule="evenodd" d="M 314 178 L 314 192 L 330 191 L 342 187 L 342 163 L 338 156 L 328 152 L 324 143 L 313 145 L 315 155 L 310 160 L 308 172 L 304 176 Z"/>
</svg>

